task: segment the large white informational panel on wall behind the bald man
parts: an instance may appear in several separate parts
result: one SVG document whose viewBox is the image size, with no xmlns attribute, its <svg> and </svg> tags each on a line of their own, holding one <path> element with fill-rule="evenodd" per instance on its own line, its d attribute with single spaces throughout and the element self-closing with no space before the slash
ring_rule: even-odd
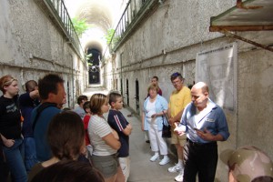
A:
<svg viewBox="0 0 273 182">
<path fill-rule="evenodd" d="M 197 53 L 196 82 L 206 82 L 209 97 L 230 111 L 237 102 L 237 53 L 237 43 Z"/>
</svg>

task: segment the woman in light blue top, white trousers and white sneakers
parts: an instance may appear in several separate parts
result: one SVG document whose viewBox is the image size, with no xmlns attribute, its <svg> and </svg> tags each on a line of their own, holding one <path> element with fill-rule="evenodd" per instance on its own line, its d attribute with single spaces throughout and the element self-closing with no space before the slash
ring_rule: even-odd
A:
<svg viewBox="0 0 273 182">
<path fill-rule="evenodd" d="M 157 85 L 148 87 L 149 96 L 144 102 L 142 115 L 142 130 L 147 130 L 150 138 L 151 149 L 155 155 L 150 158 L 154 162 L 159 158 L 159 153 L 163 159 L 159 165 L 166 165 L 169 162 L 167 157 L 167 144 L 162 137 L 162 127 L 164 113 L 167 113 L 167 100 L 163 96 L 157 95 L 159 88 Z"/>
</svg>

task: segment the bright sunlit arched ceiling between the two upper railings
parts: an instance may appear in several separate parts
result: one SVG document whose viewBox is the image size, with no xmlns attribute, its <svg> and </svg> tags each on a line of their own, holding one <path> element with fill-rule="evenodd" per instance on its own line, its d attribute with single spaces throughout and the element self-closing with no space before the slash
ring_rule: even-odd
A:
<svg viewBox="0 0 273 182">
<path fill-rule="evenodd" d="M 70 17 L 85 18 L 91 27 L 81 38 L 83 48 L 106 50 L 107 30 L 115 28 L 127 0 L 65 0 Z"/>
</svg>

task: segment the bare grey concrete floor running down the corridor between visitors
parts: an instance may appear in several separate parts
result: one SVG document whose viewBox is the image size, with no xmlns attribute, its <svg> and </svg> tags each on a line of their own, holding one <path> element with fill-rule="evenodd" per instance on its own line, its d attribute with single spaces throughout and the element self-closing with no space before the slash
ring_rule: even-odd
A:
<svg viewBox="0 0 273 182">
<path fill-rule="evenodd" d="M 92 86 L 86 89 L 84 95 L 92 96 L 95 93 L 107 94 L 108 91 L 101 86 Z M 141 130 L 141 121 L 136 116 L 131 116 L 131 112 L 127 108 L 121 110 L 126 119 L 133 126 L 133 131 L 130 136 L 130 159 L 131 169 L 128 182 L 169 182 L 175 181 L 178 173 L 167 172 L 168 167 L 172 167 L 177 162 L 176 157 L 170 154 L 171 161 L 165 165 L 160 166 L 156 162 L 150 162 L 149 158 L 153 153 L 150 150 L 149 144 L 145 142 L 144 133 Z M 106 117 L 107 118 L 107 117 Z M 161 158 L 161 157 L 160 157 Z"/>
</svg>

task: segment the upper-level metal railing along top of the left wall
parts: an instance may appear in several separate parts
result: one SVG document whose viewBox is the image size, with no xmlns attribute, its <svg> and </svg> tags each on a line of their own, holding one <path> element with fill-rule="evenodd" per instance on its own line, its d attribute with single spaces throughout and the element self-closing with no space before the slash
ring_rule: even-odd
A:
<svg viewBox="0 0 273 182">
<path fill-rule="evenodd" d="M 80 44 L 74 25 L 68 15 L 66 5 L 63 0 L 44 0 L 50 11 L 55 15 L 59 25 L 62 27 L 66 36 L 74 46 L 78 56 L 85 60 L 85 52 Z"/>
</svg>

